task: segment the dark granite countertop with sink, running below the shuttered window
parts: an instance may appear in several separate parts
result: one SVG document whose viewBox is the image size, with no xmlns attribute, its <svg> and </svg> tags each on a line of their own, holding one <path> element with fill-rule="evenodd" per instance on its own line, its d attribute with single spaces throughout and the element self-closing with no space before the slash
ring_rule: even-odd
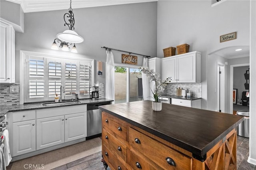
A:
<svg viewBox="0 0 256 170">
<path fill-rule="evenodd" d="M 70 101 L 70 100 L 66 100 L 66 101 Z M 108 101 L 113 101 L 113 100 L 102 98 L 102 99 L 98 99 L 98 100 L 80 99 L 78 101 L 80 103 L 69 103 L 68 105 L 65 105 L 65 106 L 103 103 L 103 102 L 108 102 Z M 44 108 L 63 107 L 64 106 L 64 105 L 43 106 L 42 105 L 43 103 L 54 103 L 54 101 L 52 101 L 52 102 L 40 102 L 40 103 L 27 103 L 27 104 L 22 104 L 22 105 L 1 106 L 0 107 L 0 116 L 3 116 L 8 112 L 14 112 L 14 111 L 23 111 L 23 110 L 31 110 L 31 109 L 44 109 Z"/>
</svg>

